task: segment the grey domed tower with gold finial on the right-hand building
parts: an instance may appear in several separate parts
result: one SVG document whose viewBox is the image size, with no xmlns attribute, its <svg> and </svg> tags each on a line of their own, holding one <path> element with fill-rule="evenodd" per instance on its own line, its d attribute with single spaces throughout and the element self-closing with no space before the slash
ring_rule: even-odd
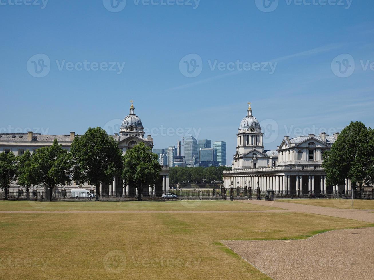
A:
<svg viewBox="0 0 374 280">
<path fill-rule="evenodd" d="M 237 147 L 239 154 L 243 155 L 253 149 L 263 152 L 263 133 L 261 132 L 260 122 L 252 115 L 251 102 L 247 115 L 240 122 L 237 134 Z"/>
</svg>

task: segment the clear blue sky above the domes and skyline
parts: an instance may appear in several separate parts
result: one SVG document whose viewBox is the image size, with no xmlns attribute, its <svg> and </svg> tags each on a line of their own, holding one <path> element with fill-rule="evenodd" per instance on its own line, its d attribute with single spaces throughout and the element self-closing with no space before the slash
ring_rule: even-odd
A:
<svg viewBox="0 0 374 280">
<path fill-rule="evenodd" d="M 266 149 L 373 127 L 373 12 L 369 0 L 0 0 L 0 129 L 113 134 L 134 99 L 155 148 L 192 134 L 227 141 L 230 163 L 247 102 Z"/>
</svg>

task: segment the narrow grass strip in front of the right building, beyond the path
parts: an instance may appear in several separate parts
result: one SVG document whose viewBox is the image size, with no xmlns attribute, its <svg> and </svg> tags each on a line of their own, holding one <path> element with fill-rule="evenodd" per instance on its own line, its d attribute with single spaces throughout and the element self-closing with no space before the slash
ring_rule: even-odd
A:
<svg viewBox="0 0 374 280">
<path fill-rule="evenodd" d="M 352 209 L 352 199 L 279 199 L 279 202 L 300 203 L 339 209 Z M 354 200 L 353 209 L 374 209 L 374 200 Z"/>
</svg>

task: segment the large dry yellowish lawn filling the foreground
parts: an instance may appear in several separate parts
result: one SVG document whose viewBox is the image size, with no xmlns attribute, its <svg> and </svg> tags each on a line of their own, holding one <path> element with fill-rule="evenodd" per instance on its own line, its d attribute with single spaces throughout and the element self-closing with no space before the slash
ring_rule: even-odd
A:
<svg viewBox="0 0 374 280">
<path fill-rule="evenodd" d="M 137 208 L 141 203 L 133 206 Z M 295 212 L 3 213 L 0 275 L 3 279 L 268 279 L 220 240 L 303 239 L 329 229 L 369 225 L 373 226 Z"/>
</svg>

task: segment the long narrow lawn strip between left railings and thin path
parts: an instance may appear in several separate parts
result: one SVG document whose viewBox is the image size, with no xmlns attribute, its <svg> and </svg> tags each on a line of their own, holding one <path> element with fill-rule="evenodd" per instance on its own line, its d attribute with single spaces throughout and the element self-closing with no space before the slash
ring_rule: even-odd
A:
<svg viewBox="0 0 374 280">
<path fill-rule="evenodd" d="M 0 211 L 251 211 L 280 208 L 229 200 L 123 201 L 123 202 L 36 202 L 0 201 Z"/>
</svg>

